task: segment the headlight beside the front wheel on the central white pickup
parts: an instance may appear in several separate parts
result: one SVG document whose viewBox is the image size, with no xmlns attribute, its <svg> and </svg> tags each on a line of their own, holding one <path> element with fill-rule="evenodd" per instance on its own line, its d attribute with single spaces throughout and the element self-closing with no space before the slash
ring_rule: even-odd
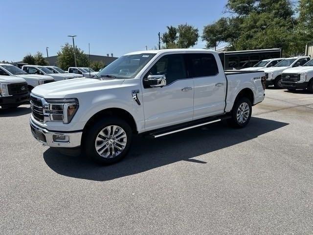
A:
<svg viewBox="0 0 313 235">
<path fill-rule="evenodd" d="M 69 123 L 76 114 L 79 103 L 78 99 L 45 99 L 44 116 L 50 121 L 63 121 Z"/>
</svg>

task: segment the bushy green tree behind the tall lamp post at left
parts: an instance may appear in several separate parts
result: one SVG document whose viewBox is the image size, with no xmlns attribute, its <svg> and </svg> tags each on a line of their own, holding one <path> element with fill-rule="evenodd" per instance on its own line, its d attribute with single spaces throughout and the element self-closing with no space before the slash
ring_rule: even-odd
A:
<svg viewBox="0 0 313 235">
<path fill-rule="evenodd" d="M 74 53 L 73 47 L 66 43 L 60 51 L 58 51 L 58 65 L 63 70 L 68 67 L 74 67 Z M 78 67 L 89 67 L 89 58 L 84 51 L 75 46 L 76 61 Z"/>
</svg>

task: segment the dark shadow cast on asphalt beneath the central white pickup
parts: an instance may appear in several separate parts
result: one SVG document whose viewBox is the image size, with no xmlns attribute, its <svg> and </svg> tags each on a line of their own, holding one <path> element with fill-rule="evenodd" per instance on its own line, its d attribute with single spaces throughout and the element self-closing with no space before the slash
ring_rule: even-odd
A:
<svg viewBox="0 0 313 235">
<path fill-rule="evenodd" d="M 108 166 L 95 164 L 86 156 L 66 156 L 53 148 L 45 151 L 44 160 L 52 170 L 61 175 L 108 181 L 178 161 L 205 164 L 192 158 L 255 139 L 288 124 L 252 117 L 244 129 L 233 129 L 220 122 L 155 140 L 135 137 L 128 156 L 121 162 Z"/>
</svg>

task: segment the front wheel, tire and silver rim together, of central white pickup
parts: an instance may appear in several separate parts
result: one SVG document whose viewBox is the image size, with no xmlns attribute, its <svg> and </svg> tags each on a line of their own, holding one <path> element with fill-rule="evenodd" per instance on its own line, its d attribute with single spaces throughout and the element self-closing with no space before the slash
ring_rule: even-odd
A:
<svg viewBox="0 0 313 235">
<path fill-rule="evenodd" d="M 86 154 L 101 164 L 116 163 L 127 155 L 132 134 L 130 125 L 123 119 L 99 120 L 84 138 Z"/>
</svg>

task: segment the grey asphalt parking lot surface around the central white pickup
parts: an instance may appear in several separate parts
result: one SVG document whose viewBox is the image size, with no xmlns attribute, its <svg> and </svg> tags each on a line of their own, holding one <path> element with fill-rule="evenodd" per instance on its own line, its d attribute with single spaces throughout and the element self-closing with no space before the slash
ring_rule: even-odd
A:
<svg viewBox="0 0 313 235">
<path fill-rule="evenodd" d="M 99 166 L 0 110 L 0 234 L 313 234 L 313 94 L 266 91 L 245 129 L 215 123 Z"/>
</svg>

